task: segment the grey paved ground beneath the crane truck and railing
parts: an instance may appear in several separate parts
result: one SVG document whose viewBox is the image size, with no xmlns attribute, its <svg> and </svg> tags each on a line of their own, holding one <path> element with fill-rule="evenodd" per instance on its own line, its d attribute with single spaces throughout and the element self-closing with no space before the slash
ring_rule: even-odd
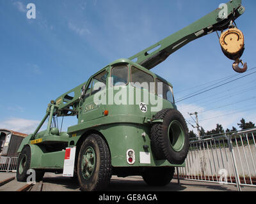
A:
<svg viewBox="0 0 256 204">
<path fill-rule="evenodd" d="M 0 173 L 0 181 L 15 177 L 15 173 Z M 8 186 L 0 187 L 0 191 L 16 191 L 24 186 L 23 182 L 13 180 Z M 242 187 L 243 191 L 256 191 L 256 187 Z M 80 191 L 77 182 L 70 178 L 61 177 L 54 173 L 45 173 L 42 191 Z M 180 180 L 180 185 L 176 179 L 165 187 L 152 187 L 145 184 L 141 177 L 118 178 L 113 176 L 109 184 L 108 191 L 237 191 L 234 185 L 220 185 L 209 182 L 197 182 L 191 180 Z"/>
</svg>

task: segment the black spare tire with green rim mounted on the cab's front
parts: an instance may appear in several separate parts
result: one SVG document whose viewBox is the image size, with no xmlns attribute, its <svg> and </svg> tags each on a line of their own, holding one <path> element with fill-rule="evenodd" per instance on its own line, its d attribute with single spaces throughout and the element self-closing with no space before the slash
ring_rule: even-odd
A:
<svg viewBox="0 0 256 204">
<path fill-rule="evenodd" d="M 167 159 L 171 164 L 184 163 L 189 149 L 188 127 L 182 114 L 175 109 L 164 109 L 154 119 L 163 119 L 163 124 L 154 124 L 150 130 L 151 147 L 157 159 Z"/>
</svg>

